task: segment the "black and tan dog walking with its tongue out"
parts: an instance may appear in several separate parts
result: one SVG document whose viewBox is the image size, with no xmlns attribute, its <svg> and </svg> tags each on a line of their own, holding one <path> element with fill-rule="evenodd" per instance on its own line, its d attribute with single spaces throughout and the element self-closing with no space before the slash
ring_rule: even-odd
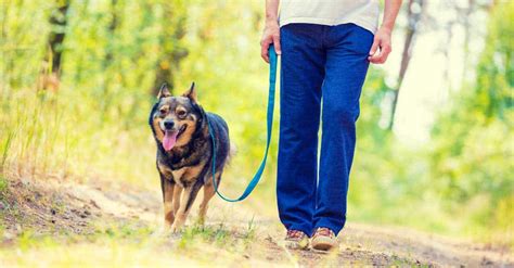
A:
<svg viewBox="0 0 514 268">
<path fill-rule="evenodd" d="M 196 101 L 194 82 L 182 95 L 174 97 L 160 87 L 149 124 L 157 144 L 156 166 L 160 177 L 165 226 L 176 232 L 183 228 L 201 188 L 198 224 L 205 222 L 207 205 L 215 195 L 213 184 L 213 140 L 216 141 L 216 184 L 219 186 L 230 154 L 229 127 L 221 116 L 206 113 Z"/>
</svg>

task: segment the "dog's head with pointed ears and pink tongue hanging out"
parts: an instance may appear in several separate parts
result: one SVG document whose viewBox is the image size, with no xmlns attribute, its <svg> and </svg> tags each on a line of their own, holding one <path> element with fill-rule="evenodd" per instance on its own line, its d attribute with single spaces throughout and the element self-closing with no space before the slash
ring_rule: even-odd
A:
<svg viewBox="0 0 514 268">
<path fill-rule="evenodd" d="M 157 98 L 150 114 L 155 139 L 166 151 L 188 144 L 205 120 L 205 112 L 196 102 L 194 82 L 188 91 L 177 97 L 171 95 L 168 87 L 163 85 Z"/>
</svg>

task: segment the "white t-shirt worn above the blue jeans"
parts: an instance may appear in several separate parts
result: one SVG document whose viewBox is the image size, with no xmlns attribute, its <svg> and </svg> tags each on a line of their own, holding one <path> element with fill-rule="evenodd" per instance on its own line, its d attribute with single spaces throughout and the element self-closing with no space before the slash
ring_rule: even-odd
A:
<svg viewBox="0 0 514 268">
<path fill-rule="evenodd" d="M 281 0 L 279 23 L 354 23 L 374 34 L 378 16 L 378 0 Z"/>
</svg>

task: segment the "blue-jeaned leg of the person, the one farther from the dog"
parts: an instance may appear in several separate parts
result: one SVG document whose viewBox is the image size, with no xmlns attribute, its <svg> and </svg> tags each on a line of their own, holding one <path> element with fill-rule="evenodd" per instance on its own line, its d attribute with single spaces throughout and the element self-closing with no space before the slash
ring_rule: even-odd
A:
<svg viewBox="0 0 514 268">
<path fill-rule="evenodd" d="M 337 234 L 346 221 L 348 176 L 356 143 L 355 123 L 368 72 L 373 34 L 354 24 L 330 27 L 323 82 L 322 140 L 314 229 Z"/>
</svg>

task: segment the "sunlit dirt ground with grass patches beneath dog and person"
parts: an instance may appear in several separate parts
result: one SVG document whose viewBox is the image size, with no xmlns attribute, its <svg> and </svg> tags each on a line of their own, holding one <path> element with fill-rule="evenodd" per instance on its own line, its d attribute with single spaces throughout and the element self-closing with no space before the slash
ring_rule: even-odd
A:
<svg viewBox="0 0 514 268">
<path fill-rule="evenodd" d="M 207 227 L 167 234 L 159 228 L 162 208 L 157 191 L 105 182 L 8 181 L 7 190 L 0 193 L 0 267 L 53 267 L 54 264 L 155 267 L 174 260 L 234 267 L 264 264 L 266 267 L 514 267 L 509 248 L 354 222 L 339 235 L 336 251 L 291 251 L 282 245 L 284 233 L 277 219 L 254 215 L 244 204 L 219 200 L 213 202 L 208 212 Z M 107 243 L 98 242 L 104 241 L 105 235 L 110 237 Z M 119 245 L 124 243 L 131 247 Z M 113 247 L 121 250 L 114 254 Z M 52 251 L 57 252 L 56 256 L 50 257 Z M 97 259 L 87 257 L 91 255 L 87 251 L 94 252 Z M 101 257 L 99 251 L 111 255 Z M 170 263 L 157 261 L 162 258 Z"/>
</svg>

